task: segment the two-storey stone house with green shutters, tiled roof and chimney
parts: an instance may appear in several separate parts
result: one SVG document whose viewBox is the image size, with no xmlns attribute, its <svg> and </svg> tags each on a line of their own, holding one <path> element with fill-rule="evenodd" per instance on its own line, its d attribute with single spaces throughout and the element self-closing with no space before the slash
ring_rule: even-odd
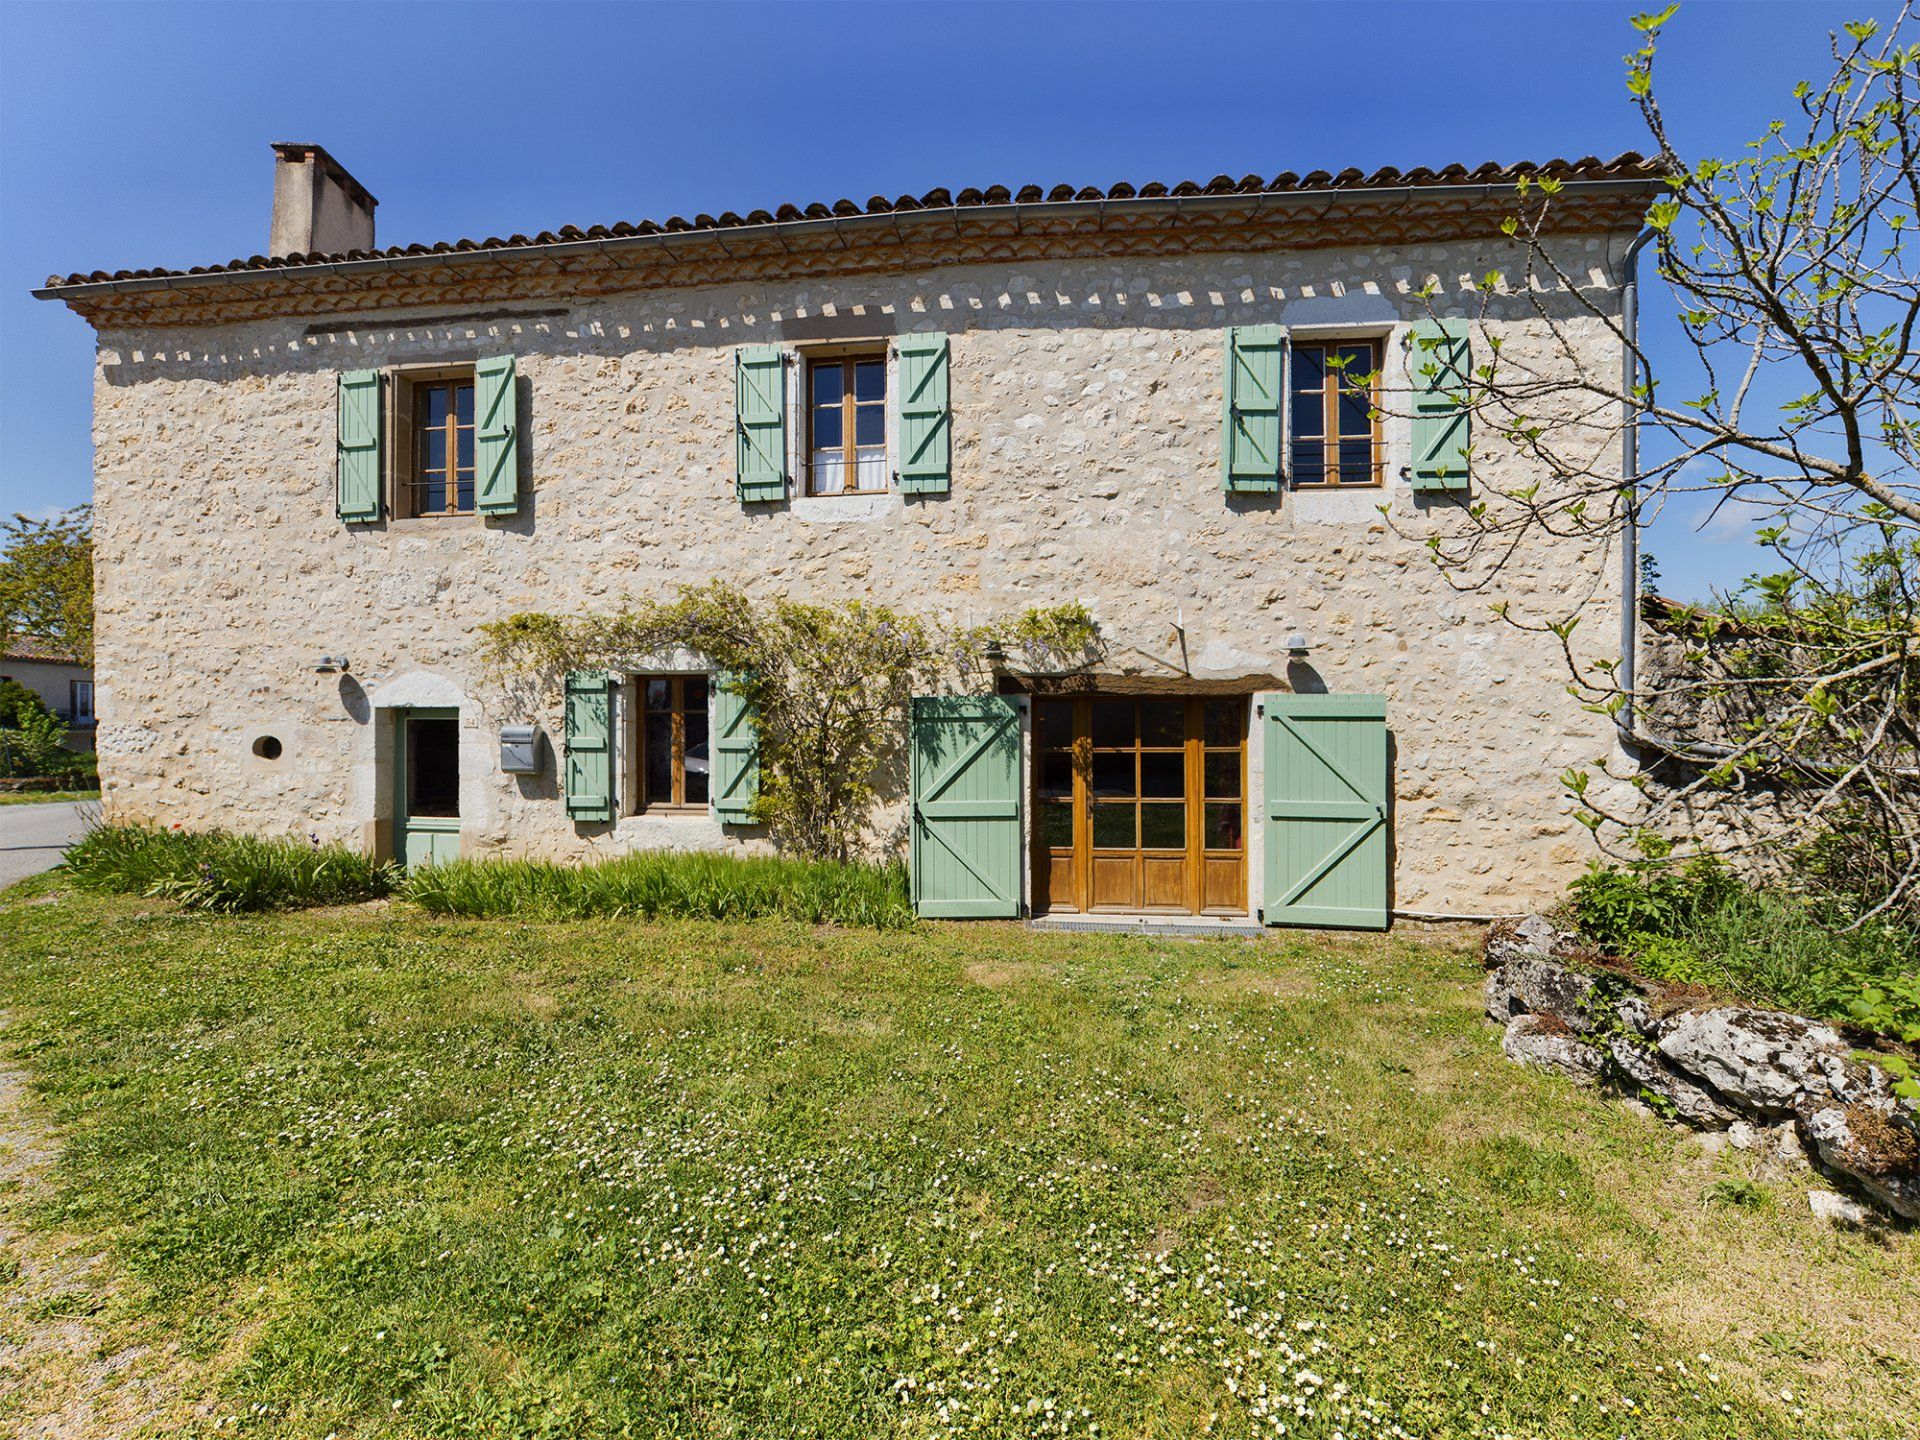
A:
<svg viewBox="0 0 1920 1440">
<path fill-rule="evenodd" d="M 372 198 L 276 152 L 292 253 L 36 292 L 98 330 L 111 816 L 409 860 L 756 843 L 751 716 L 691 657 L 532 710 L 476 660 L 486 620 L 718 576 L 1094 611 L 1098 674 L 952 707 L 964 764 L 920 768 L 908 826 L 931 914 L 1384 924 L 1521 910 L 1586 860 L 1557 776 L 1613 728 L 1430 566 L 1423 532 L 1521 461 L 1480 438 L 1469 474 L 1409 344 L 1486 344 L 1421 290 L 1476 307 L 1521 175 L 1563 180 L 1549 244 L 1611 313 L 1659 190 L 1638 157 L 374 250 Z M 1565 338 L 1619 372 L 1601 319 L 1563 307 L 1553 338 L 1536 300 L 1494 296 L 1509 353 L 1563 367 Z M 1386 419 L 1327 382 L 1342 357 Z M 1605 555 L 1509 580 L 1615 634 Z M 532 772 L 503 768 L 509 726 L 547 737 Z"/>
</svg>

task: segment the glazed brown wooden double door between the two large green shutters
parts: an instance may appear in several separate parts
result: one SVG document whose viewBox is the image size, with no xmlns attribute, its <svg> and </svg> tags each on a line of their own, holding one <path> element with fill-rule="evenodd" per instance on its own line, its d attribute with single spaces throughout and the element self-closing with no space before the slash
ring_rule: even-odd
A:
<svg viewBox="0 0 1920 1440">
<path fill-rule="evenodd" d="M 1033 703 L 1033 908 L 1246 912 L 1246 699 Z"/>
</svg>

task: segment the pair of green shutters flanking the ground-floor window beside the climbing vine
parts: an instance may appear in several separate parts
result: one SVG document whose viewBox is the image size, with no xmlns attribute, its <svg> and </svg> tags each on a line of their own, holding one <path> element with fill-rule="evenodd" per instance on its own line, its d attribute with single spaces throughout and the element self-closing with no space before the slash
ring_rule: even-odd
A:
<svg viewBox="0 0 1920 1440">
<path fill-rule="evenodd" d="M 561 785 L 566 814 L 593 822 L 614 818 L 612 687 L 605 670 L 572 670 L 564 695 Z M 745 826 L 760 793 L 760 741 L 753 705 L 732 676 L 718 676 L 707 701 L 707 791 L 716 820 Z"/>
</svg>

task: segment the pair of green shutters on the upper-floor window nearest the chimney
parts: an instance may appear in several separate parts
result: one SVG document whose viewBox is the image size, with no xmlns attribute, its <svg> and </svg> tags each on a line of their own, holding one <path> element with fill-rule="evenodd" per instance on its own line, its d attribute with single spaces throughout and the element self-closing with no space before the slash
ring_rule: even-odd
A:
<svg viewBox="0 0 1920 1440">
<path fill-rule="evenodd" d="M 384 515 L 386 380 L 380 371 L 346 371 L 338 378 L 334 501 L 348 524 Z M 474 511 L 516 515 L 520 509 L 520 388 L 513 355 L 474 363 Z"/>
</svg>

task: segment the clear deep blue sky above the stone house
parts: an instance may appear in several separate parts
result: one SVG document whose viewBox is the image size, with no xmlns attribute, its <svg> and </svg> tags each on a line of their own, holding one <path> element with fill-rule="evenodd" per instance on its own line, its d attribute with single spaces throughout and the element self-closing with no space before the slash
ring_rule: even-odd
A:
<svg viewBox="0 0 1920 1440">
<path fill-rule="evenodd" d="M 1620 65 L 1636 8 L 0 0 L 0 509 L 90 490 L 92 332 L 27 292 L 265 250 L 273 140 L 332 150 L 380 198 L 380 244 L 939 184 L 1613 156 L 1645 148 Z M 1663 38 L 1672 132 L 1738 150 L 1820 73 L 1828 29 L 1891 10 L 1690 0 Z M 1738 524 L 1693 518 L 1649 538 L 1676 593 L 1753 566 Z"/>
</svg>

